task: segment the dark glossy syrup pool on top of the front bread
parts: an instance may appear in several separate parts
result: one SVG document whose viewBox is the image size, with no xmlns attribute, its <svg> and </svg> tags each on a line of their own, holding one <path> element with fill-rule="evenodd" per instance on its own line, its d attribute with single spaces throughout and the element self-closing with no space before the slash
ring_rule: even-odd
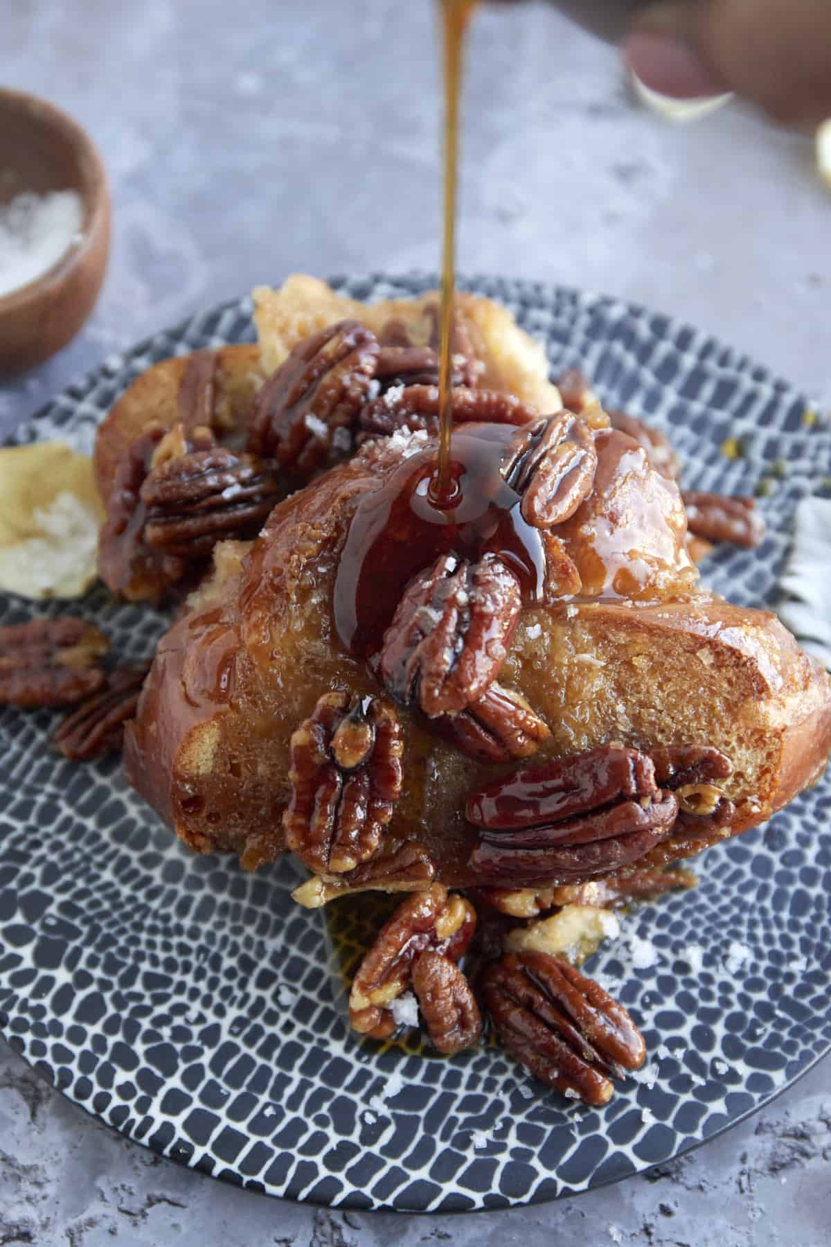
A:
<svg viewBox="0 0 831 1247">
<path fill-rule="evenodd" d="M 470 424 L 453 431 L 452 505 L 447 510 L 430 500 L 435 446 L 405 459 L 379 490 L 359 503 L 334 591 L 335 626 L 351 653 L 369 656 L 380 650 L 405 586 L 449 551 L 472 560 L 487 551 L 498 554 L 520 581 L 526 602 L 542 600 L 542 534 L 522 519 L 522 499 L 500 470 L 515 434 L 512 425 L 500 424 Z"/>
</svg>

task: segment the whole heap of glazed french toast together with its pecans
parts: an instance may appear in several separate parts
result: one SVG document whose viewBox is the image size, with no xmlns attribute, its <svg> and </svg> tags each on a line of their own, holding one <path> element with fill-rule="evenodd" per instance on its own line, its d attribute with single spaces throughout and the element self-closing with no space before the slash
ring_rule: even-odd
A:
<svg viewBox="0 0 831 1247">
<path fill-rule="evenodd" d="M 123 734 L 191 848 L 293 853 L 303 905 L 406 894 L 354 976 L 360 1034 L 394 1034 L 409 994 L 452 1054 L 486 1010 L 538 1079 L 605 1104 L 644 1059 L 576 964 L 608 909 L 690 887 L 679 863 L 769 818 L 831 747 L 829 675 L 699 580 L 713 541 L 757 544 L 761 521 L 680 493 L 662 433 L 574 370 L 552 384 L 468 296 L 436 509 L 436 296 L 368 306 L 294 277 L 255 292 L 255 322 L 257 347 L 156 365 L 101 428 L 103 579 L 192 592 L 141 696 L 115 672 L 57 747 Z"/>
</svg>

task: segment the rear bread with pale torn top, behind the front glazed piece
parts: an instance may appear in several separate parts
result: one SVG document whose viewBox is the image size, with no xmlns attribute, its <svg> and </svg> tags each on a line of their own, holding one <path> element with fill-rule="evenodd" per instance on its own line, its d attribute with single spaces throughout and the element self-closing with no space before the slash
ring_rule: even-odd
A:
<svg viewBox="0 0 831 1247">
<path fill-rule="evenodd" d="M 162 549 L 158 540 L 153 545 L 159 537 L 158 530 L 156 539 L 146 540 L 146 514 L 138 495 L 151 465 L 154 466 L 156 453 L 164 459 L 181 458 L 184 454 L 188 439 L 183 434 L 178 439 L 171 439 L 169 445 L 166 441 L 158 451 L 154 448 L 161 434 L 173 429 L 179 421 L 183 421 L 184 428 L 191 428 L 199 415 L 199 409 L 191 410 L 196 394 L 202 394 L 199 402 L 208 404 L 209 415 L 207 410 L 202 412 L 203 419 L 197 420 L 194 426 L 198 426 L 198 423 L 207 424 L 211 435 L 230 451 L 253 450 L 270 459 L 274 451 L 272 440 L 267 439 L 267 448 L 259 435 L 253 438 L 249 435 L 262 433 L 262 420 L 268 424 L 273 418 L 270 410 L 268 414 L 260 412 L 249 429 L 255 415 L 257 392 L 265 377 L 285 362 L 289 350 L 302 345 L 311 332 L 319 329 L 325 332 L 334 322 L 344 318 L 360 318 L 379 335 L 385 333 L 394 338 L 402 335 L 416 348 L 430 345 L 427 358 L 436 358 L 439 317 L 437 296 L 434 292 L 419 299 L 364 304 L 343 298 L 316 278 L 297 276 L 289 278 L 279 292 L 260 288 L 255 292 L 255 299 L 259 345 L 229 345 L 216 352 L 198 352 L 153 365 L 133 382 L 98 429 L 95 474 L 107 511 L 100 537 L 98 571 L 105 584 L 117 596 L 132 601 L 161 599 L 173 586 L 183 586 L 187 590 L 187 586 L 194 584 L 203 574 L 206 560 L 196 545 L 192 556 L 191 554 L 186 556 L 182 551 L 171 554 Z M 374 345 L 371 333 L 369 337 Z M 516 392 L 531 404 L 528 414 L 536 412 L 537 407 L 542 410 L 558 409 L 558 390 L 547 379 L 548 365 L 542 347 L 515 323 L 506 308 L 490 299 L 460 296 L 455 340 L 460 349 L 457 358 L 463 360 L 463 365 L 460 363 L 460 375 L 467 378 L 467 387 L 480 383 L 505 393 Z M 191 364 L 193 372 L 189 370 Z M 389 380 L 390 374 L 385 375 Z M 358 419 L 358 414 L 351 412 L 349 419 Z M 308 415 L 318 420 L 321 418 L 315 412 L 309 412 Z M 293 419 L 299 420 L 299 429 L 305 426 L 302 413 L 295 414 Z M 607 423 L 605 416 L 601 423 Z M 343 435 L 346 430 L 335 431 Z M 300 440 L 304 436 L 305 434 L 300 434 Z M 333 435 L 328 461 L 331 463 L 349 453 L 350 441 L 350 436 L 346 436 L 345 444 L 341 440 L 335 448 Z M 196 444 L 191 445 L 191 450 L 193 449 L 198 449 Z M 325 466 L 319 463 L 320 455 L 316 449 L 311 449 L 314 453 L 308 458 L 305 466 L 298 464 L 297 480 L 305 479 L 311 471 Z M 293 478 L 284 475 L 290 465 L 280 459 L 278 466 L 280 484 L 284 488 L 267 493 L 263 504 L 277 493 L 284 493 L 290 485 Z M 272 484 L 274 484 L 274 471 L 275 465 L 269 463 L 267 474 L 270 475 Z M 263 513 L 264 510 L 265 505 Z M 167 524 L 167 519 L 164 518 L 169 531 L 171 525 Z M 233 520 L 233 516 L 228 519 Z M 257 513 L 255 520 L 262 522 L 260 511 Z M 253 519 L 239 531 L 245 536 L 255 531 Z M 203 541 L 202 547 L 206 544 Z"/>
</svg>

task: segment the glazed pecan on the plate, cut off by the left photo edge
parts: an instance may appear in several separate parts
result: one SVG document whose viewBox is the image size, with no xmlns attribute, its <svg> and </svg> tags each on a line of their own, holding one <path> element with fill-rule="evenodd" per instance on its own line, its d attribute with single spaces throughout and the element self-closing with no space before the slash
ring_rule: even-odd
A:
<svg viewBox="0 0 831 1247">
<path fill-rule="evenodd" d="M 0 705 L 72 706 L 105 683 L 106 636 L 65 615 L 0 627 Z"/>
</svg>

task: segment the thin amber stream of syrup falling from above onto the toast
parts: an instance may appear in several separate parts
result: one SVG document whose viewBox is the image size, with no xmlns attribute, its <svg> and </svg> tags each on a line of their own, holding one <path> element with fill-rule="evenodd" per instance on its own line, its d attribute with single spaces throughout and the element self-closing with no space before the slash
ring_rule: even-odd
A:
<svg viewBox="0 0 831 1247">
<path fill-rule="evenodd" d="M 476 0 L 439 0 L 444 36 L 444 243 L 441 262 L 441 353 L 439 362 L 439 461 L 430 484 L 430 501 L 449 510 L 456 490 L 450 470 L 450 434 L 453 426 L 453 304 L 456 276 L 456 187 L 458 165 L 458 104 L 465 36 Z"/>
</svg>

